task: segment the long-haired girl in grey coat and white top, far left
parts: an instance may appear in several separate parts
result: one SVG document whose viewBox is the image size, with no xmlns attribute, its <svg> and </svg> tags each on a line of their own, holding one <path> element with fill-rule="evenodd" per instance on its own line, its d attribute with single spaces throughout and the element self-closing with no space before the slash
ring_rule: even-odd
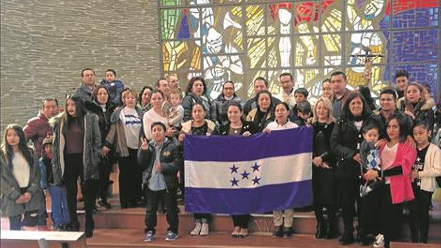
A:
<svg viewBox="0 0 441 248">
<path fill-rule="evenodd" d="M 40 168 L 34 150 L 27 145 L 23 129 L 17 124 L 6 127 L 0 167 L 2 217 L 9 217 L 11 230 L 36 226 L 43 198 Z"/>
</svg>

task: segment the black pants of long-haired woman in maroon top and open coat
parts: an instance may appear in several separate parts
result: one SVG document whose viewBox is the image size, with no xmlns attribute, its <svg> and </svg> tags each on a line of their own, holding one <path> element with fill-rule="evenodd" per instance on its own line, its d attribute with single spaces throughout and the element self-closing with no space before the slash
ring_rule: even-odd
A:
<svg viewBox="0 0 441 248">
<path fill-rule="evenodd" d="M 63 181 L 66 184 L 66 198 L 70 217 L 70 228 L 78 230 L 80 223 L 77 217 L 77 180 L 81 180 L 84 210 L 86 212 L 86 229 L 94 229 L 93 208 L 98 191 L 98 180 L 84 180 L 83 154 L 66 154 L 64 156 L 65 170 Z"/>
</svg>

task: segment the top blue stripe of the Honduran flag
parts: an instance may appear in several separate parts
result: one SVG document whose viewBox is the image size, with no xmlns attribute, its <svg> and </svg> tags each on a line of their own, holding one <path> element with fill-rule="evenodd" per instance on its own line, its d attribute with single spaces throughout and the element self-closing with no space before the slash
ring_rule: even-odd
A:
<svg viewBox="0 0 441 248">
<path fill-rule="evenodd" d="M 264 146 L 263 142 L 270 145 Z M 251 137 L 187 135 L 184 140 L 184 160 L 189 161 L 251 161 L 306 152 L 312 152 L 310 127 L 260 133 Z"/>
</svg>

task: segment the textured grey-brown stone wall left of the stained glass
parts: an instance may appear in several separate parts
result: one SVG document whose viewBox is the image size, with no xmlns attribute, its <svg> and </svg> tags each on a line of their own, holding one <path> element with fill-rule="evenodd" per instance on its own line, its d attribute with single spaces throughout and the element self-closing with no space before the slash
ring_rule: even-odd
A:
<svg viewBox="0 0 441 248">
<path fill-rule="evenodd" d="M 23 125 L 41 99 L 64 104 L 67 89 L 91 67 L 96 82 L 113 68 L 140 90 L 159 77 L 158 1 L 76 0 L 0 2 L 0 118 Z M 2 137 L 3 138 L 3 137 Z"/>
</svg>

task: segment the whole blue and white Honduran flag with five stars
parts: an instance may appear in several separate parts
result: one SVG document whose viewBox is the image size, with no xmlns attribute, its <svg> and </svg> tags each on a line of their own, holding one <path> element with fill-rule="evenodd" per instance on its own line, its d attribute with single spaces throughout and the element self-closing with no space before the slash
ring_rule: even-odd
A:
<svg viewBox="0 0 441 248">
<path fill-rule="evenodd" d="M 185 210 L 246 214 L 312 204 L 312 129 L 185 136 Z"/>
</svg>

